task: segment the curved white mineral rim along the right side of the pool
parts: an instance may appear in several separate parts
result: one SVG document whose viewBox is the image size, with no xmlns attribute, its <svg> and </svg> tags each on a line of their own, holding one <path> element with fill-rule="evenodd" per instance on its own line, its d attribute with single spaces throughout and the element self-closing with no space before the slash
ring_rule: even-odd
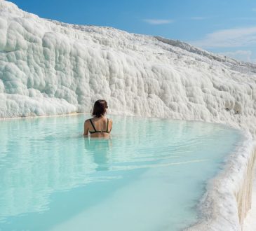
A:
<svg viewBox="0 0 256 231">
<path fill-rule="evenodd" d="M 199 221 L 186 231 L 242 230 L 252 201 L 256 141 L 249 132 L 241 133 L 241 145 L 228 156 L 220 174 L 208 182 L 199 204 Z"/>
</svg>

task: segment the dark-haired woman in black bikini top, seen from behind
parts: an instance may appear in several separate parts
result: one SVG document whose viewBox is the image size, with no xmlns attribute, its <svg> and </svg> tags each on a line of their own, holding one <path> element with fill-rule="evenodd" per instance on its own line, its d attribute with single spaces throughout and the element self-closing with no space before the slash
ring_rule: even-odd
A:
<svg viewBox="0 0 256 231">
<path fill-rule="evenodd" d="M 84 123 L 84 136 L 108 138 L 112 130 L 112 120 L 106 118 L 107 102 L 104 99 L 99 99 L 93 106 L 93 118 L 90 118 Z"/>
</svg>

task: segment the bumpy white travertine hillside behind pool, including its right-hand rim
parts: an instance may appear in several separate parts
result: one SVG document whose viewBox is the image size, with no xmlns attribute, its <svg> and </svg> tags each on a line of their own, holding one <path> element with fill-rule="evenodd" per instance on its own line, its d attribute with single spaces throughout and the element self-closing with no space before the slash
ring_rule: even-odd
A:
<svg viewBox="0 0 256 231">
<path fill-rule="evenodd" d="M 255 64 L 166 38 L 41 19 L 0 0 L 0 118 L 89 112 L 99 98 L 113 114 L 224 123 L 250 134 L 227 164 L 229 187 L 219 192 L 218 178 L 209 185 L 208 215 L 196 226 L 241 228 L 255 157 Z"/>
</svg>

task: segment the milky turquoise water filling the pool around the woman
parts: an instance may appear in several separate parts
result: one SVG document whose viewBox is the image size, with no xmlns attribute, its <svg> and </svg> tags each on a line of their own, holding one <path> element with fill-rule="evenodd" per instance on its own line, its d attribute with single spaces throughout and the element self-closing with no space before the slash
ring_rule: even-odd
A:
<svg viewBox="0 0 256 231">
<path fill-rule="evenodd" d="M 0 230 L 181 230 L 241 140 L 222 125 L 113 116 L 0 121 Z"/>
</svg>

